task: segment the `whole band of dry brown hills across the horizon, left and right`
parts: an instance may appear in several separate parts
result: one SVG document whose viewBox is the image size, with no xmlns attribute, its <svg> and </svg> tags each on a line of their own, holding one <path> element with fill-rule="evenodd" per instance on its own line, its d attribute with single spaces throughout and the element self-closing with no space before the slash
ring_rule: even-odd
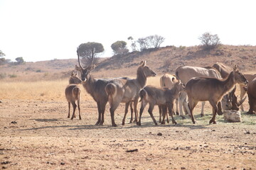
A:
<svg viewBox="0 0 256 170">
<path fill-rule="evenodd" d="M 92 74 L 99 78 L 135 77 L 142 60 L 146 60 L 149 67 L 159 75 L 173 74 L 176 67 L 181 65 L 206 67 L 215 62 L 223 62 L 230 67 L 238 64 L 243 72 L 255 72 L 256 46 L 222 45 L 210 52 L 201 50 L 199 46 L 167 46 L 144 52 L 130 52 L 124 56 L 102 58 Z M 70 60 L 26 62 L 20 65 L 5 64 L 0 66 L 0 81 L 66 79 L 75 69 L 75 64 L 75 57 Z"/>
</svg>

